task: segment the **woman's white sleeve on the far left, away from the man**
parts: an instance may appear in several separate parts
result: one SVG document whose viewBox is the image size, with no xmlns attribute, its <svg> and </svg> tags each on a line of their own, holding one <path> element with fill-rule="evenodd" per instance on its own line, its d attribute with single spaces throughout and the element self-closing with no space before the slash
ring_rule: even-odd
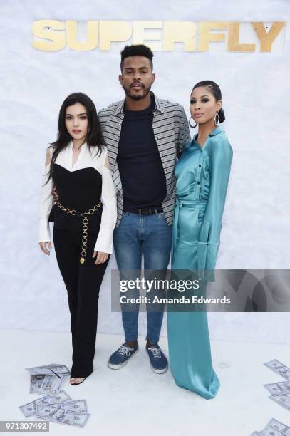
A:
<svg viewBox="0 0 290 436">
<path fill-rule="evenodd" d="M 46 163 L 48 162 L 48 157 L 51 159 L 51 147 L 48 147 L 46 151 Z M 50 160 L 49 159 L 49 160 Z M 42 183 L 41 183 L 41 194 L 38 208 L 38 242 L 51 242 L 51 232 L 48 224 L 49 213 L 51 212 L 51 208 L 53 207 L 53 197 L 51 191 L 53 189 L 53 180 L 52 178 L 46 183 L 48 179 L 48 171 L 49 166 L 45 165 L 43 175 L 42 175 Z"/>
</svg>

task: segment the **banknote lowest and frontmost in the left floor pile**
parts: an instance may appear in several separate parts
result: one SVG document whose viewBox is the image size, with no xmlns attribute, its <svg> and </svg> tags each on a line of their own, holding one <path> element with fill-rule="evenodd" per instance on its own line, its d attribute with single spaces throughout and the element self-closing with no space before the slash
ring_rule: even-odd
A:
<svg viewBox="0 0 290 436">
<path fill-rule="evenodd" d="M 53 405 L 39 404 L 36 405 L 36 417 L 40 417 L 43 420 L 83 427 L 90 417 L 90 414 L 85 412 L 74 412 L 73 410 L 58 408 Z"/>
</svg>

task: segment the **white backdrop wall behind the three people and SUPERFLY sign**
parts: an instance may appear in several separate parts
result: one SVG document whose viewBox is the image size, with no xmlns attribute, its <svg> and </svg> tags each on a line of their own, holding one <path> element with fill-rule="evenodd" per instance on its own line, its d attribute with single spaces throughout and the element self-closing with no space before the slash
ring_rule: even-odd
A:
<svg viewBox="0 0 290 436">
<path fill-rule="evenodd" d="M 69 330 L 66 290 L 54 252 L 37 244 L 40 175 L 58 110 L 82 91 L 98 110 L 123 98 L 120 49 L 56 52 L 33 48 L 39 19 L 160 21 L 288 21 L 288 0 L 10 0 L 0 4 L 1 294 L 0 328 Z M 217 267 L 289 268 L 289 27 L 281 53 L 155 52 L 154 92 L 184 105 L 204 79 L 222 89 L 234 149 Z M 288 135 L 287 135 L 288 133 Z M 121 333 L 110 312 L 110 269 L 100 294 L 98 331 Z M 290 343 L 288 313 L 210 313 L 212 338 Z M 145 334 L 145 314 L 140 333 Z M 165 323 L 162 334 L 166 334 Z"/>
</svg>

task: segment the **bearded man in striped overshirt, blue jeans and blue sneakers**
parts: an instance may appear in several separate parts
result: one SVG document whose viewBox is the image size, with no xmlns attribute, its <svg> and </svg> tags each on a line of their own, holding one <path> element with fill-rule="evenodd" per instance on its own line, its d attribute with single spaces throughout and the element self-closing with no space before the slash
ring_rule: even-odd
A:
<svg viewBox="0 0 290 436">
<path fill-rule="evenodd" d="M 150 91 L 155 81 L 152 58 L 147 46 L 125 46 L 119 76 L 125 99 L 98 113 L 118 190 L 113 241 L 121 279 L 138 276 L 142 256 L 145 270 L 167 269 L 175 202 L 174 167 L 183 145 L 190 140 L 182 106 L 157 98 Z M 138 290 L 125 295 L 136 297 Z M 112 369 L 122 368 L 138 350 L 139 306 L 131 305 L 130 311 L 126 307 L 122 311 L 125 343 L 110 356 L 108 366 Z M 146 350 L 155 373 L 165 373 L 168 367 L 158 346 L 162 317 L 162 310 L 147 308 Z"/>
</svg>

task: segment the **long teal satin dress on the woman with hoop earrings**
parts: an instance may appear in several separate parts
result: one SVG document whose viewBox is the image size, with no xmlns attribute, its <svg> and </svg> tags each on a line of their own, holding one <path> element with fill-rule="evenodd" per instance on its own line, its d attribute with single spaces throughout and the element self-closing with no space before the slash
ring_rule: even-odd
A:
<svg viewBox="0 0 290 436">
<path fill-rule="evenodd" d="M 185 145 L 175 165 L 176 202 L 172 270 L 214 270 L 232 165 L 232 147 L 217 126 L 203 147 Z M 170 370 L 175 383 L 214 398 L 219 379 L 212 368 L 207 312 L 167 311 Z"/>
</svg>

